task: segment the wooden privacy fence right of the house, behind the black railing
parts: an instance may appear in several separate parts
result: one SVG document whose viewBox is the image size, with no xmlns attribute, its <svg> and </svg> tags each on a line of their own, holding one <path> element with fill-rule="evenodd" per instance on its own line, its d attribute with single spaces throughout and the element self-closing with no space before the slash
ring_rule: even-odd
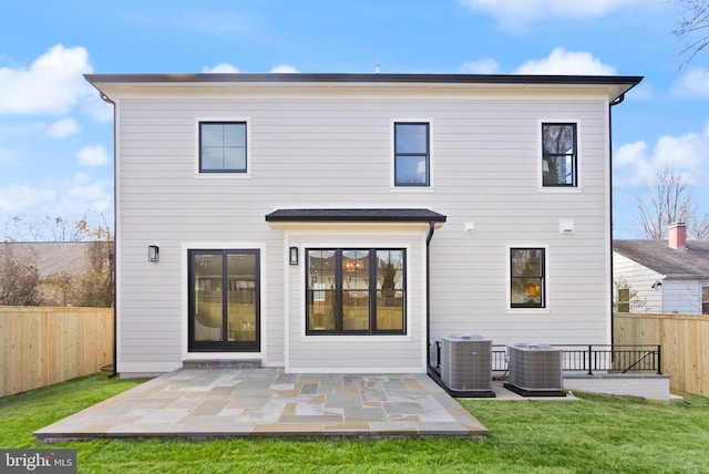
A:
<svg viewBox="0 0 709 474">
<path fill-rule="evenodd" d="M 660 344 L 670 389 L 709 396 L 709 316 L 616 313 L 614 343 Z"/>
</svg>

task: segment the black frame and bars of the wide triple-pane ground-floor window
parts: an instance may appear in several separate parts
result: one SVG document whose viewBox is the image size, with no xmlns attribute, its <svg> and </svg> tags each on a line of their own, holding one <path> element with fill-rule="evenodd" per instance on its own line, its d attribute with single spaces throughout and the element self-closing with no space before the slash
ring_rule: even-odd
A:
<svg viewBox="0 0 709 474">
<path fill-rule="evenodd" d="M 311 251 L 333 251 L 335 253 L 335 329 L 310 329 L 310 308 L 309 308 L 309 293 L 308 291 L 332 291 L 332 290 L 311 290 L 309 288 L 309 282 L 311 279 L 310 275 L 310 253 Z M 370 285 L 368 289 L 369 292 L 369 328 L 363 330 L 345 330 L 343 329 L 343 311 L 342 311 L 342 300 L 343 300 L 343 274 L 342 270 L 342 255 L 343 251 L 350 250 L 367 250 L 369 251 L 369 281 L 377 281 L 377 253 L 378 251 L 401 251 L 402 253 L 402 268 L 403 272 L 402 279 L 402 288 L 398 288 L 397 291 L 401 292 L 402 300 L 402 321 L 401 321 L 401 330 L 391 330 L 391 329 L 378 329 L 377 328 L 377 293 L 383 291 L 383 289 L 378 289 L 377 285 Z M 408 319 L 408 308 L 407 308 L 407 292 L 408 292 L 408 278 L 407 278 L 407 265 L 408 257 L 405 248 L 400 247 L 391 247 L 391 248 L 381 248 L 381 247 L 310 247 L 305 249 L 305 260 L 306 260 L 306 281 L 305 281 L 305 292 L 306 292 L 306 336 L 405 336 L 407 334 L 407 319 Z"/>
</svg>

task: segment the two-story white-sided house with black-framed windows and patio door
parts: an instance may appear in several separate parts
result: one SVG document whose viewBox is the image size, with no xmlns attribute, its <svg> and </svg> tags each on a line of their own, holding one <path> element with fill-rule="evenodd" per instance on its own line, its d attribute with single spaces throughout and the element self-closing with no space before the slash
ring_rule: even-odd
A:
<svg viewBox="0 0 709 474">
<path fill-rule="evenodd" d="M 123 375 L 609 343 L 610 110 L 641 78 L 86 79 L 115 106 Z"/>
</svg>

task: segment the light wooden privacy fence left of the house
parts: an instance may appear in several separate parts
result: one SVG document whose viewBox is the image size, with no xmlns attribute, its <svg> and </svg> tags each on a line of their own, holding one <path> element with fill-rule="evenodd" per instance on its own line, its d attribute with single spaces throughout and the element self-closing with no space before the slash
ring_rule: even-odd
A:
<svg viewBox="0 0 709 474">
<path fill-rule="evenodd" d="M 113 362 L 113 309 L 0 307 L 0 396 Z"/>
</svg>

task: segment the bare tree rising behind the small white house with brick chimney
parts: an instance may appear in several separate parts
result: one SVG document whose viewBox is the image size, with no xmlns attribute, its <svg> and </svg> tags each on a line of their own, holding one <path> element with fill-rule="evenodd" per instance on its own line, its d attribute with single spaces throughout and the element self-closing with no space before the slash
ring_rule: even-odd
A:
<svg viewBox="0 0 709 474">
<path fill-rule="evenodd" d="M 638 221 L 649 239 L 667 238 L 667 226 L 672 223 L 686 223 L 688 236 L 695 239 L 709 237 L 709 216 L 699 216 L 698 207 L 692 203 L 689 188 L 682 183 L 682 175 L 666 166 L 656 173 L 656 184 L 648 189 L 647 200 L 638 198 Z"/>
</svg>

